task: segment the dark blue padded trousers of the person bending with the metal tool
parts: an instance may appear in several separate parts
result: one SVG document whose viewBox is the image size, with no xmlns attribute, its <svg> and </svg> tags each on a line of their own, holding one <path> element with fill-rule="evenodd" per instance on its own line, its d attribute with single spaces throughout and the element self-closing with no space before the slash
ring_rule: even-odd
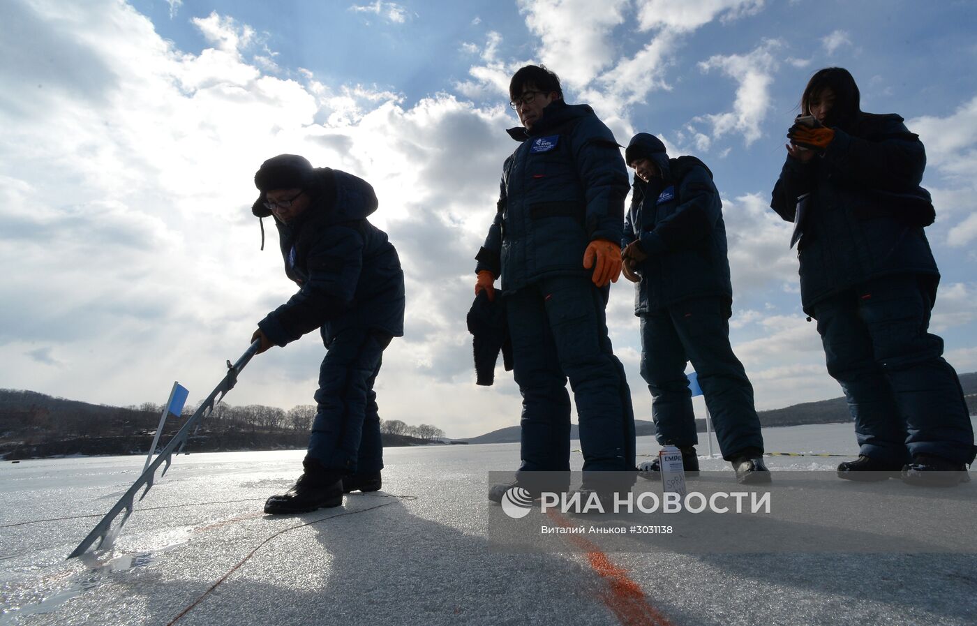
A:
<svg viewBox="0 0 977 626">
<path fill-rule="evenodd" d="M 347 474 L 379 472 L 383 442 L 373 383 L 392 337 L 366 329 L 340 332 L 319 368 L 318 411 L 307 460 Z"/>
</svg>

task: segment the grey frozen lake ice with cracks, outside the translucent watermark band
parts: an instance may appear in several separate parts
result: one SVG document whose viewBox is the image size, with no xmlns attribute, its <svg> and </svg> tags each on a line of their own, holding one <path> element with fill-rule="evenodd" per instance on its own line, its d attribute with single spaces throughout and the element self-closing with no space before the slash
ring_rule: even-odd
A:
<svg viewBox="0 0 977 626">
<path fill-rule="evenodd" d="M 774 451 L 857 453 L 851 424 L 767 429 L 764 437 Z M 657 449 L 653 438 L 639 439 L 639 454 Z M 699 449 L 703 470 L 727 471 L 721 459 L 704 458 L 704 443 Z M 139 477 L 144 459 L 0 463 L 0 625 L 589 625 L 627 618 L 608 600 L 613 581 L 587 555 L 510 554 L 489 541 L 495 505 L 486 501 L 487 475 L 515 469 L 518 444 L 388 448 L 383 491 L 350 495 L 335 509 L 264 516 L 264 500 L 291 486 L 302 456 L 175 457 L 112 550 L 84 561 L 64 557 Z M 580 454 L 572 458 L 579 470 Z M 832 470 L 843 460 L 770 457 L 768 465 L 776 480 L 778 471 Z M 640 586 L 643 602 L 676 625 L 972 625 L 977 614 L 973 554 L 607 557 Z"/>
</svg>

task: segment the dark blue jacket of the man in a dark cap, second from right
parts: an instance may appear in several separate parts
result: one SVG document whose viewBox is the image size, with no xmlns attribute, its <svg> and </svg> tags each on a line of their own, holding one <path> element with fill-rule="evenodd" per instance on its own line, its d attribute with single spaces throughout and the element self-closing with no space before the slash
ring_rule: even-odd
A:
<svg viewBox="0 0 977 626">
<path fill-rule="evenodd" d="M 669 159 L 652 135 L 635 135 L 628 161 L 652 159 L 661 177 L 634 177 L 621 248 L 639 240 L 648 259 L 638 265 L 634 313 L 648 313 L 689 300 L 718 296 L 730 306 L 733 285 L 726 226 L 712 172 L 694 156 Z"/>
</svg>

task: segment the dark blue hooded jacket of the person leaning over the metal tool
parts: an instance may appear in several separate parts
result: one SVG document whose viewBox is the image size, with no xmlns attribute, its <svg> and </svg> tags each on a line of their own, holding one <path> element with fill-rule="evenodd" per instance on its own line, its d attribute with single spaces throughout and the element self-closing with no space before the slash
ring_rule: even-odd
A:
<svg viewBox="0 0 977 626">
<path fill-rule="evenodd" d="M 347 328 L 403 336 L 404 272 L 387 233 L 366 221 L 377 207 L 373 188 L 329 168 L 316 180 L 312 205 L 290 224 L 275 221 L 285 274 L 299 290 L 258 327 L 276 346 L 316 328 L 326 346 Z"/>
</svg>

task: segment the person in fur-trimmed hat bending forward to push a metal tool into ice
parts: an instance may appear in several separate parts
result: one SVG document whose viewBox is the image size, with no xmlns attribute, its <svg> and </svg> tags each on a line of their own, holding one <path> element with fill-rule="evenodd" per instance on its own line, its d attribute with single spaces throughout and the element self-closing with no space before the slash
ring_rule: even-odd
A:
<svg viewBox="0 0 977 626">
<path fill-rule="evenodd" d="M 285 275 L 299 290 L 258 322 L 251 341 L 261 339 L 261 354 L 318 328 L 327 348 L 305 472 L 268 499 L 265 513 L 339 506 L 344 492 L 380 488 L 373 383 L 384 349 L 404 335 L 404 272 L 387 234 L 366 221 L 377 201 L 365 181 L 279 154 L 262 164 L 254 184 L 261 194 L 251 212 L 275 216 Z"/>
</svg>

